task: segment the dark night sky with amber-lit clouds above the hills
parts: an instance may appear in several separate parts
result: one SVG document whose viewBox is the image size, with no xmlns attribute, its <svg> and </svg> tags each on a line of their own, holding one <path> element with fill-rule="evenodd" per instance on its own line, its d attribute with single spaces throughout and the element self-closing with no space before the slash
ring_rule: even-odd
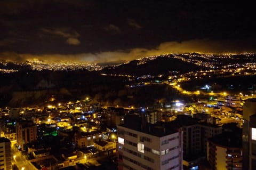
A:
<svg viewBox="0 0 256 170">
<path fill-rule="evenodd" d="M 246 1 L 1 0 L 0 60 L 255 52 L 254 11 Z"/>
</svg>

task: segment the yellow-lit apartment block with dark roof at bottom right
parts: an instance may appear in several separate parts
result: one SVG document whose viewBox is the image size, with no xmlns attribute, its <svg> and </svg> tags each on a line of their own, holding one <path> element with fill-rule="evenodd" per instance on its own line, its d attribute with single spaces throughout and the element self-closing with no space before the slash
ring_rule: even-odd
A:
<svg viewBox="0 0 256 170">
<path fill-rule="evenodd" d="M 223 133 L 207 142 L 207 160 L 214 170 L 242 170 L 242 156 L 242 133 Z"/>
</svg>

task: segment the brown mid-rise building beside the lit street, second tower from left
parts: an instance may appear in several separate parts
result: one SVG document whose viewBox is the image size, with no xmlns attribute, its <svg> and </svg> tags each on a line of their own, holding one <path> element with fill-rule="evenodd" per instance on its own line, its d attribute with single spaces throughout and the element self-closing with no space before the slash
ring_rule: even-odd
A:
<svg viewBox="0 0 256 170">
<path fill-rule="evenodd" d="M 37 140 L 37 126 L 33 122 L 20 122 L 16 125 L 17 144 L 21 150 L 24 145 Z"/>
</svg>

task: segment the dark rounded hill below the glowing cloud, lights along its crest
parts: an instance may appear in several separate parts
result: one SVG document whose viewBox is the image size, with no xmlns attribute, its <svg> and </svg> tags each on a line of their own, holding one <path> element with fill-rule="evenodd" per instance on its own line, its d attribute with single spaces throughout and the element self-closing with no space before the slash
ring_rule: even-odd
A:
<svg viewBox="0 0 256 170">
<path fill-rule="evenodd" d="M 102 69 L 105 74 L 127 74 L 134 76 L 168 74 L 172 71 L 181 73 L 205 69 L 196 64 L 173 58 L 173 56 L 158 56 L 153 60 L 133 60 L 129 63 Z"/>
</svg>

